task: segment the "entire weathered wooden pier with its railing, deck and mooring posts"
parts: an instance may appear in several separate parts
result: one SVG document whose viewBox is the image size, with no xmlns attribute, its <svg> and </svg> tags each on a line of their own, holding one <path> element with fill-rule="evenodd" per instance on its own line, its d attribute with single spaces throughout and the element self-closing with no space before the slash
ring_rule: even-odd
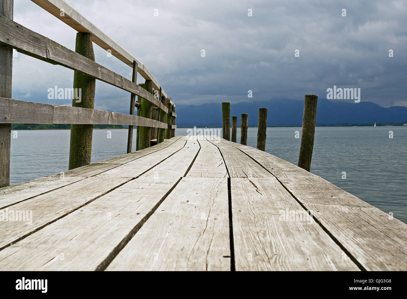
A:
<svg viewBox="0 0 407 299">
<path fill-rule="evenodd" d="M 309 172 L 316 95 L 305 96 L 300 167 L 265 152 L 267 108 L 258 149 L 245 113 L 233 142 L 230 103 L 223 138 L 175 137 L 175 104 L 143 63 L 63 0 L 32 1 L 78 33 L 72 51 L 0 0 L 0 271 L 407 270 L 407 225 Z M 131 80 L 96 63 L 93 43 Z M 73 70 L 83 98 L 12 99 L 13 49 Z M 129 114 L 94 109 L 95 80 L 129 92 Z M 13 123 L 71 124 L 71 169 L 9 186 Z M 93 124 L 128 125 L 127 154 L 90 164 Z"/>
</svg>

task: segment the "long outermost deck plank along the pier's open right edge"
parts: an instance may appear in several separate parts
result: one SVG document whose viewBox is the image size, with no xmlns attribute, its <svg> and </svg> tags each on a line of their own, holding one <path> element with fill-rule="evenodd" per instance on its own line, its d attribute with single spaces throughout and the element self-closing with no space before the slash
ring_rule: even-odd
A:
<svg viewBox="0 0 407 299">
<path fill-rule="evenodd" d="M 361 267 L 387 271 L 407 269 L 403 250 L 407 248 L 407 225 L 287 161 L 248 146 L 237 147 L 274 172 Z M 369 212 L 373 210 L 375 212 Z M 394 226 L 398 227 L 396 236 Z"/>
</svg>

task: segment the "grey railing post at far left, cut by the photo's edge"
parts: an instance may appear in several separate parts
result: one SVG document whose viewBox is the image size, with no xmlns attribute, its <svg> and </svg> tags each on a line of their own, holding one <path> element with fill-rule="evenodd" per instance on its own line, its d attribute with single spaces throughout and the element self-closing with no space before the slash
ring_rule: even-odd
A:
<svg viewBox="0 0 407 299">
<path fill-rule="evenodd" d="M 0 15 L 13 20 L 13 0 L 0 0 Z M 0 45 L 0 97 L 11 98 L 13 48 Z M 0 188 L 10 185 L 11 124 L 0 124 Z"/>
</svg>

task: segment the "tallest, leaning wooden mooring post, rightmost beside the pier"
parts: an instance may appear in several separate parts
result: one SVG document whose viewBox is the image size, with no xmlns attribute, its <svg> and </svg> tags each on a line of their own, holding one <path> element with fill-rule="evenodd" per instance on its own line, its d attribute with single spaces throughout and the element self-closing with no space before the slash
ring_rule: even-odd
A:
<svg viewBox="0 0 407 299">
<path fill-rule="evenodd" d="M 302 117 L 302 133 L 298 167 L 311 170 L 312 151 L 314 148 L 315 124 L 317 121 L 317 101 L 315 94 L 306 94 L 304 101 L 304 116 Z"/>
</svg>

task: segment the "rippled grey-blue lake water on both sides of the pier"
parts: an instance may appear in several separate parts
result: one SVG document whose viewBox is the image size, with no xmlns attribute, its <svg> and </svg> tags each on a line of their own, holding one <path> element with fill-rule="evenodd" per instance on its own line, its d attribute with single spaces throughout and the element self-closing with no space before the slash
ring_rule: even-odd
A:
<svg viewBox="0 0 407 299">
<path fill-rule="evenodd" d="M 108 132 L 111 131 L 111 138 Z M 298 163 L 301 128 L 267 128 L 266 151 Z M 389 138 L 389 131 L 393 138 Z M 14 136 L 13 136 L 14 135 Z M 175 135 L 187 135 L 176 129 Z M 222 136 L 222 130 L 217 129 Z M 17 137 L 17 138 L 13 138 Z M 247 145 L 256 147 L 257 128 Z M 136 140 L 136 138 L 133 138 Z M 12 131 L 10 183 L 68 170 L 69 130 Z M 240 142 L 240 128 L 237 129 Z M 123 155 L 127 130 L 94 130 L 92 163 Z M 133 149 L 136 145 L 133 144 Z M 317 127 L 311 172 L 407 223 L 407 127 Z M 346 179 L 342 179 L 346 172 Z"/>
</svg>

